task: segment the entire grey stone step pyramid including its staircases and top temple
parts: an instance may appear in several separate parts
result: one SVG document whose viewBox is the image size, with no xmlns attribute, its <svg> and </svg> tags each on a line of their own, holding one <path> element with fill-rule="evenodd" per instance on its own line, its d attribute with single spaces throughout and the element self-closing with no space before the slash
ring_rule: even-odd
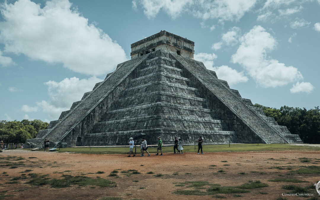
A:
<svg viewBox="0 0 320 200">
<path fill-rule="evenodd" d="M 131 44 L 131 60 L 84 93 L 70 110 L 27 142 L 50 146 L 125 145 L 145 133 L 148 144 L 180 137 L 204 143 L 301 143 L 266 117 L 214 71 L 193 59 L 194 42 L 161 31 Z"/>
</svg>

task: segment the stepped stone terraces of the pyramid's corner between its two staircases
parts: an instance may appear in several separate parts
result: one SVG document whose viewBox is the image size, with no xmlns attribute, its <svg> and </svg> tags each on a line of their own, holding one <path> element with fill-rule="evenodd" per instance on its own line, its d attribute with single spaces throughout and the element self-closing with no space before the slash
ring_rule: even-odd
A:
<svg viewBox="0 0 320 200">
<path fill-rule="evenodd" d="M 190 79 L 184 77 L 183 69 L 177 68 L 176 60 L 169 56 L 168 52 L 157 52 L 145 60 L 143 68 L 136 69 L 137 77 L 119 94 L 119 99 L 95 124 L 93 133 L 88 134 L 86 140 L 113 133 L 130 137 L 134 130 L 148 132 L 154 129 L 161 129 L 159 134 L 164 142 L 173 139 L 166 138 L 165 132 L 178 129 L 194 135 L 191 138 L 181 136 L 184 143 L 193 143 L 199 133 L 227 135 L 228 140 L 230 134 L 235 134 L 217 118 L 214 110 L 208 109 L 207 100 L 200 98 L 198 89 L 189 86 Z M 214 142 L 210 136 L 207 140 Z"/>
</svg>

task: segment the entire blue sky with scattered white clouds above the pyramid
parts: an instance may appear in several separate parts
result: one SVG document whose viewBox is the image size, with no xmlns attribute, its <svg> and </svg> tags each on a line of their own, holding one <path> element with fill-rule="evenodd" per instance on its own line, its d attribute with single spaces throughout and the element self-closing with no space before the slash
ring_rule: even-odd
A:
<svg viewBox="0 0 320 200">
<path fill-rule="evenodd" d="M 243 98 L 319 106 L 320 0 L 0 0 L 0 119 L 56 120 L 161 30 Z"/>
</svg>

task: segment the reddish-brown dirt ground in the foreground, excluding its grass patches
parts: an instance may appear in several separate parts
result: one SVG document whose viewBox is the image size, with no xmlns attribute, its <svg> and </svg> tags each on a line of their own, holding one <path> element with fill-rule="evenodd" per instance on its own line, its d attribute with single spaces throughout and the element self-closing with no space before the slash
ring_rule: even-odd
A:
<svg viewBox="0 0 320 200">
<path fill-rule="evenodd" d="M 44 198 L 100 199 L 105 196 L 122 197 L 123 199 L 216 199 L 216 197 L 212 196 L 179 196 L 172 194 L 172 192 L 176 190 L 194 189 L 177 187 L 173 183 L 208 181 L 209 183 L 220 184 L 221 186 L 238 186 L 248 183 L 249 180 L 260 180 L 263 183 L 267 183 L 269 187 L 251 189 L 250 193 L 239 194 L 241 196 L 234 196 L 235 194 L 219 195 L 224 196 L 227 199 L 276 199 L 279 197 L 279 194 L 281 196 L 282 193 L 288 192 L 288 190 L 281 188 L 282 185 L 294 184 L 306 187 L 320 181 L 319 174 L 290 173 L 290 171 L 297 170 L 301 168 L 301 166 L 320 165 L 320 162 L 317 162 L 319 160 L 315 159 L 307 163 L 302 163 L 299 160 L 301 157 L 320 158 L 320 152 L 219 152 L 205 153 L 204 155 L 187 152 L 179 155 L 168 153 L 164 154 L 164 156 L 156 156 L 153 154 L 150 157 L 126 157 L 127 155 L 116 154 L 97 155 L 6 150 L 0 154 L 0 157 L 2 158 L 6 156 L 21 156 L 24 158 L 23 160 L 20 160 L 20 162 L 24 162 L 25 165 L 19 165 L 18 168 L 13 169 L 10 168 L 10 166 L 2 166 L 0 169 L 0 183 L 2 183 L 0 185 L 0 191 L 7 191 L 5 193 L 6 195 L 14 195 L 6 197 L 7 199 L 19 200 Z M 225 164 L 229 165 L 224 166 Z M 282 168 L 287 166 L 292 169 L 279 170 L 272 168 L 277 166 L 282 166 Z M 28 180 L 18 180 L 19 183 L 8 184 L 10 179 L 20 176 L 19 172 L 27 169 L 33 170 L 33 173 L 49 174 L 49 178 L 57 179 L 62 179 L 61 174 L 73 176 L 85 174 L 85 176 L 92 178 L 100 176 L 101 178 L 115 181 L 117 187 L 100 188 L 99 186 L 79 187 L 75 185 L 68 188 L 57 189 L 52 188 L 50 185 L 32 186 L 27 183 Z M 141 173 L 130 176 L 118 173 L 120 176 L 119 178 L 108 177 L 109 173 L 115 169 L 121 169 L 119 171 L 134 169 Z M 221 169 L 225 172 L 218 172 Z M 70 172 L 64 172 L 67 170 L 70 170 Z M 103 171 L 105 173 L 96 174 L 98 171 Z M 147 174 L 147 172 L 150 171 L 154 172 L 154 174 Z M 3 172 L 7 172 L 7 175 L 4 175 Z M 245 174 L 239 174 L 240 172 L 244 172 Z M 257 172 L 264 172 L 264 174 Z M 162 177 L 155 177 L 154 175 L 158 173 L 165 175 Z M 173 175 L 174 173 L 178 174 Z M 268 181 L 277 178 L 299 179 L 308 182 L 284 183 Z M 133 180 L 138 180 L 138 182 L 133 182 Z M 209 186 L 207 186 L 207 188 L 208 187 Z M 26 190 L 17 191 L 19 189 Z M 314 192 L 317 194 L 316 189 L 314 189 Z M 315 196 L 319 198 L 318 195 Z M 286 197 L 288 199 L 307 199 L 297 196 Z"/>
</svg>

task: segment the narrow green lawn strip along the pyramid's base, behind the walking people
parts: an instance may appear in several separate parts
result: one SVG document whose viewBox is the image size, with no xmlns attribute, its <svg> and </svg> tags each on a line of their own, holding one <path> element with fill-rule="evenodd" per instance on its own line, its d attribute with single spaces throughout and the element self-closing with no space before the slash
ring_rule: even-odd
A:
<svg viewBox="0 0 320 200">
<path fill-rule="evenodd" d="M 133 149 L 134 150 L 134 149 Z M 284 151 L 284 150 L 296 150 L 296 151 L 319 151 L 320 147 L 308 147 L 308 146 L 295 146 L 289 144 L 230 144 L 229 145 L 203 145 L 204 152 L 224 152 L 224 151 Z M 148 148 L 149 153 L 156 153 L 156 147 Z M 198 146 L 184 146 L 183 152 L 197 152 Z M 74 152 L 84 154 L 128 154 L 128 147 L 76 147 L 76 148 L 60 148 L 58 152 Z M 173 152 L 173 146 L 163 147 L 163 153 Z M 140 154 L 140 146 L 137 147 L 137 153 Z M 147 154 L 145 153 L 147 156 Z"/>
</svg>

